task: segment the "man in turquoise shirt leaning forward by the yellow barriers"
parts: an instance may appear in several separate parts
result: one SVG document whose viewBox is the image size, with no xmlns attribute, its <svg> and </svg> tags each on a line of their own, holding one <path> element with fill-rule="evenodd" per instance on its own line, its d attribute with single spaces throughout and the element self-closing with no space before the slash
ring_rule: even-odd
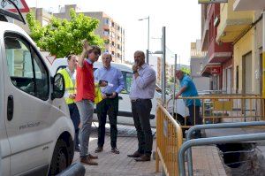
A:
<svg viewBox="0 0 265 176">
<path fill-rule="evenodd" d="M 183 73 L 183 71 L 177 70 L 176 77 L 178 78 L 180 82 L 180 90 L 175 96 L 176 99 L 178 99 L 178 96 L 180 95 L 183 97 L 198 96 L 197 88 L 195 87 L 193 80 L 189 76 Z M 185 99 L 185 103 L 190 113 L 190 117 L 188 119 L 188 121 L 190 122 L 190 125 L 192 126 L 201 125 L 202 120 L 200 117 L 200 106 L 201 106 L 200 99 Z M 194 121 L 195 121 L 195 124 L 194 124 Z M 201 137 L 201 133 L 196 132 L 195 137 Z"/>
</svg>

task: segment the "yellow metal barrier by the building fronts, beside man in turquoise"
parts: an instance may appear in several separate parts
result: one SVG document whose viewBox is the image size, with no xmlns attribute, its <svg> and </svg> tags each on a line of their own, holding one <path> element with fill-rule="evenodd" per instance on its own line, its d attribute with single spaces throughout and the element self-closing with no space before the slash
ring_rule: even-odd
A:
<svg viewBox="0 0 265 176">
<path fill-rule="evenodd" d="M 193 104 L 201 102 L 202 124 L 215 124 L 220 122 L 246 122 L 260 121 L 264 119 L 264 98 L 261 96 L 234 96 L 234 95 L 212 95 L 179 97 L 184 101 L 192 101 Z M 178 117 L 173 117 L 178 119 Z M 190 117 L 196 122 L 196 118 Z M 181 124 L 183 128 L 189 128 L 196 124 L 191 124 L 185 118 Z"/>
</svg>

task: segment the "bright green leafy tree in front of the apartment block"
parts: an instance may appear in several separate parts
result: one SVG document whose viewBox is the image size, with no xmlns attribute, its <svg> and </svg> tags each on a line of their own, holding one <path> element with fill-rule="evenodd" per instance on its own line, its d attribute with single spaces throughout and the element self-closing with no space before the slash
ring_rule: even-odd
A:
<svg viewBox="0 0 265 176">
<path fill-rule="evenodd" d="M 89 44 L 103 47 L 104 41 L 95 34 L 99 20 L 76 14 L 71 9 L 71 19 L 57 19 L 52 17 L 49 25 L 42 27 L 34 17 L 33 12 L 27 13 L 27 23 L 31 37 L 37 46 L 47 50 L 56 57 L 65 57 L 69 54 L 79 54 L 82 51 L 82 40 L 87 39 Z"/>
</svg>

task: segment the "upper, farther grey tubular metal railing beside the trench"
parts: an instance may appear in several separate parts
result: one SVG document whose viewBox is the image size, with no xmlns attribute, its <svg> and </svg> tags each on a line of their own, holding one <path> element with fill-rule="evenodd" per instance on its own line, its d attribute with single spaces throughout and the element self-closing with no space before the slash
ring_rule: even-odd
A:
<svg viewBox="0 0 265 176">
<path fill-rule="evenodd" d="M 259 122 L 239 122 L 239 123 L 223 123 L 223 124 L 210 124 L 210 125 L 199 125 L 191 127 L 186 133 L 186 141 L 191 140 L 192 134 L 196 130 L 201 129 L 217 129 L 217 128 L 239 128 L 239 127 L 249 127 L 249 126 L 265 126 L 265 121 Z M 189 176 L 193 175 L 193 157 L 192 149 L 187 149 L 187 166 Z"/>
</svg>

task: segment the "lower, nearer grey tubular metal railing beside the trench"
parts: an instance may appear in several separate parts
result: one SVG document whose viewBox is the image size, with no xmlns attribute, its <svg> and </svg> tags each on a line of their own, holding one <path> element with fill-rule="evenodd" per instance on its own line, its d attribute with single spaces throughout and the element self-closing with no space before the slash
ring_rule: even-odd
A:
<svg viewBox="0 0 265 176">
<path fill-rule="evenodd" d="M 217 143 L 249 142 L 249 141 L 260 141 L 260 140 L 265 140 L 265 133 L 210 137 L 210 138 L 189 140 L 187 142 L 184 142 L 178 151 L 179 175 L 186 176 L 186 167 L 185 167 L 185 158 L 184 158 L 186 149 L 189 149 L 193 146 L 203 146 L 203 145 L 217 144 Z"/>
</svg>

